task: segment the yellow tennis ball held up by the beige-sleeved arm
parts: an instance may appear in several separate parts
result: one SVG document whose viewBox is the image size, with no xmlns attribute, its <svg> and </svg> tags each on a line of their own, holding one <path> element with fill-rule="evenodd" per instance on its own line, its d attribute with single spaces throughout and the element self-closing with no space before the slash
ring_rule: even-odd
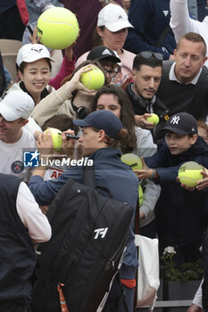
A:
<svg viewBox="0 0 208 312">
<path fill-rule="evenodd" d="M 89 90 L 98 90 L 104 86 L 104 73 L 97 67 L 81 74 L 80 82 Z"/>
</svg>

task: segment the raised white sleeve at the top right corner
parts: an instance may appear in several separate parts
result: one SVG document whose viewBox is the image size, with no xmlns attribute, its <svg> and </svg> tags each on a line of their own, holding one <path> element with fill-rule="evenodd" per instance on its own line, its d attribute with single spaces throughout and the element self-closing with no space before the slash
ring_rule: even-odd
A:
<svg viewBox="0 0 208 312">
<path fill-rule="evenodd" d="M 187 0 L 171 0 L 171 29 L 174 33 L 176 42 L 187 32 L 197 31 L 196 21 L 191 19 L 187 8 Z"/>
</svg>

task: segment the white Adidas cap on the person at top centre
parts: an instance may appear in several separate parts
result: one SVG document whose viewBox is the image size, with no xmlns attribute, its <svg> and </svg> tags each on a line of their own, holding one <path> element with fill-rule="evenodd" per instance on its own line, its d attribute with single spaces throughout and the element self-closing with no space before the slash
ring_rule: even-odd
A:
<svg viewBox="0 0 208 312">
<path fill-rule="evenodd" d="M 98 14 L 97 26 L 105 26 L 112 32 L 133 28 L 128 21 L 127 13 L 119 4 L 107 4 Z"/>
</svg>

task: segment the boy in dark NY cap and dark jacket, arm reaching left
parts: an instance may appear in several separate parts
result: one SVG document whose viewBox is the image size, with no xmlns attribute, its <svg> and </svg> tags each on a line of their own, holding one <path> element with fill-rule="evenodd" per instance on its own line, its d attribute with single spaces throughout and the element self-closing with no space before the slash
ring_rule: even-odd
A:
<svg viewBox="0 0 208 312">
<path fill-rule="evenodd" d="M 154 210 L 161 254 L 165 247 L 172 246 L 177 251 L 178 264 L 194 262 L 201 256 L 208 193 L 197 189 L 190 192 L 180 186 L 177 177 L 179 167 L 187 161 L 196 161 L 207 168 L 208 148 L 197 135 L 196 119 L 187 112 L 171 116 L 162 130 L 165 143 L 154 156 L 145 159 L 137 177 L 152 177 L 162 188 Z"/>
</svg>

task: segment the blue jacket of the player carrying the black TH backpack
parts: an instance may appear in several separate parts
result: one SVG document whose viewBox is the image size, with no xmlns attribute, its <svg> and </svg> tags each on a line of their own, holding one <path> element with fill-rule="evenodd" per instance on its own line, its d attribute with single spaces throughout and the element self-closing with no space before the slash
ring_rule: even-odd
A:
<svg viewBox="0 0 208 312">
<path fill-rule="evenodd" d="M 138 181 L 128 165 L 121 161 L 121 152 L 113 148 L 102 148 L 94 152 L 90 157 L 94 160 L 96 185 L 107 187 L 116 201 L 129 203 L 134 209 L 137 206 Z M 70 167 L 56 180 L 43 181 L 42 177 L 34 176 L 29 180 L 29 189 L 39 205 L 47 205 L 53 201 L 55 195 L 65 182 L 72 178 L 82 183 L 83 168 Z M 106 193 L 102 193 L 106 196 Z M 129 242 L 123 266 L 122 278 L 135 278 L 137 269 L 137 252 L 134 243 L 133 220 L 129 231 Z"/>
</svg>

